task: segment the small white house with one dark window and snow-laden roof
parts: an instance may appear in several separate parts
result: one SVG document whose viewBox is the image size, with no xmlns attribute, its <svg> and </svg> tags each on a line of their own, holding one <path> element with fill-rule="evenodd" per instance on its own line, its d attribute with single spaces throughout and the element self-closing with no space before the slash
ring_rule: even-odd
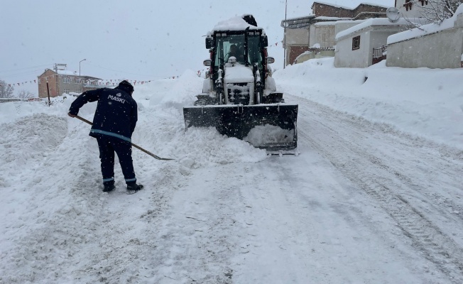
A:
<svg viewBox="0 0 463 284">
<path fill-rule="evenodd" d="M 411 24 L 401 18 L 371 18 L 336 35 L 335 67 L 369 67 L 374 64 L 374 49 L 383 49 L 389 35 L 405 31 Z"/>
</svg>

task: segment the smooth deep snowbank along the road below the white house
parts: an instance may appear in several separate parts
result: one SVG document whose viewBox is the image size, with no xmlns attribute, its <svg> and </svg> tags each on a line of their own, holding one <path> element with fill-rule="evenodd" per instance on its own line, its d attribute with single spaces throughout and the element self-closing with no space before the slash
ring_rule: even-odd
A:
<svg viewBox="0 0 463 284">
<path fill-rule="evenodd" d="M 463 69 L 386 67 L 385 61 L 336 68 L 334 58 L 308 60 L 273 75 L 288 94 L 458 148 L 463 148 L 462 76 Z"/>
</svg>

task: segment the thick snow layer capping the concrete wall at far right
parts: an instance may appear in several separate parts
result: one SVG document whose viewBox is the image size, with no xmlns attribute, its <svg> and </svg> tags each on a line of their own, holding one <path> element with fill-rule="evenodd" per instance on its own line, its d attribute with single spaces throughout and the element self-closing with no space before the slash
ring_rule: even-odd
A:
<svg viewBox="0 0 463 284">
<path fill-rule="evenodd" d="M 453 28 L 455 26 L 455 21 L 457 18 L 463 14 L 463 4 L 461 4 L 457 11 L 455 11 L 452 18 L 447 18 L 440 25 L 436 23 L 429 23 L 427 25 L 420 26 L 420 28 L 413 28 L 408 31 L 403 31 L 401 33 L 396 33 L 394 35 L 389 35 L 388 44 L 398 43 L 399 41 L 408 40 L 410 38 L 418 38 L 423 35 L 430 33 L 437 33 L 438 31 L 446 30 L 447 28 Z"/>
</svg>

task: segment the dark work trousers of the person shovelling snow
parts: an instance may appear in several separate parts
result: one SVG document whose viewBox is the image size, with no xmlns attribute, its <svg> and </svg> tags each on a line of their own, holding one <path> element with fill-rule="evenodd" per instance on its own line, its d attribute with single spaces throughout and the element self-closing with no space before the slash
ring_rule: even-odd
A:
<svg viewBox="0 0 463 284">
<path fill-rule="evenodd" d="M 114 152 L 119 158 L 122 173 L 127 185 L 136 183 L 134 163 L 132 161 L 132 146 L 130 143 L 116 137 L 97 137 L 99 159 L 102 161 L 104 185 L 114 185 Z"/>
</svg>

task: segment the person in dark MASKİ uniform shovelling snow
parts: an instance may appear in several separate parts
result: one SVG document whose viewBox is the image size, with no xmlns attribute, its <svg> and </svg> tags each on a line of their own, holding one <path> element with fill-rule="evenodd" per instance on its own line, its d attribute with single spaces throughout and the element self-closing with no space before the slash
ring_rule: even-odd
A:
<svg viewBox="0 0 463 284">
<path fill-rule="evenodd" d="M 75 117 L 87 102 L 96 102 L 89 136 L 97 138 L 99 158 L 102 161 L 104 192 L 114 190 L 114 152 L 119 158 L 127 185 L 127 193 L 143 188 L 137 185 L 132 161 L 131 137 L 137 121 L 137 105 L 132 98 L 134 86 L 126 80 L 114 89 L 102 88 L 83 92 L 72 102 L 68 115 Z"/>
</svg>

